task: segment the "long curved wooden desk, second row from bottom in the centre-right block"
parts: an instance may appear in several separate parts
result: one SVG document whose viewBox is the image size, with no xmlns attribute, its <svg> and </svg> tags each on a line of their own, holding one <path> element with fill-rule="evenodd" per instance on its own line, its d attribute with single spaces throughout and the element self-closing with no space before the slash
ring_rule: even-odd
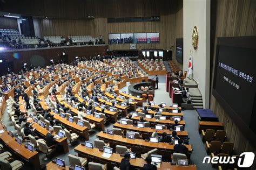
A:
<svg viewBox="0 0 256 170">
<path fill-rule="evenodd" d="M 110 146 L 113 148 L 116 148 L 116 145 L 123 145 L 123 146 L 127 146 L 127 148 L 132 148 L 132 151 L 136 152 L 137 154 L 143 154 L 143 153 L 149 152 L 153 148 L 157 148 L 158 154 L 163 155 L 163 159 L 165 161 L 170 160 L 171 153 L 173 153 L 174 145 L 170 145 L 168 143 L 151 143 L 143 139 L 127 139 L 116 134 L 111 135 L 103 132 L 99 132 L 97 134 L 97 137 L 99 139 L 104 140 L 105 143 L 109 142 Z M 185 145 L 185 146 L 188 148 L 188 152 L 191 153 L 192 151 L 191 145 Z M 188 158 L 189 157 L 190 157 L 190 154 L 188 154 Z"/>
</svg>

